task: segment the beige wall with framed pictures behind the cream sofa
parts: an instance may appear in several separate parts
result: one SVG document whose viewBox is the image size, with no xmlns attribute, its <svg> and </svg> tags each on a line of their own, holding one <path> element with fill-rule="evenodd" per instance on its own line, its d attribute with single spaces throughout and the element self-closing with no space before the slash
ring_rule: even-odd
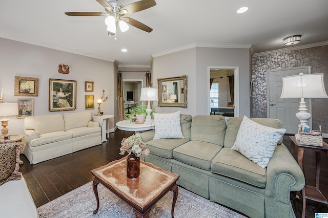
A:
<svg viewBox="0 0 328 218">
<path fill-rule="evenodd" d="M 54 49 L 34 46 L 23 42 L 0 38 L 0 88 L 7 102 L 17 102 L 18 98 L 34 98 L 34 115 L 59 114 L 63 112 L 49 112 L 49 79 L 76 80 L 76 112 L 85 110 L 85 95 L 94 95 L 95 100 L 101 90 L 108 91 L 108 100 L 101 104 L 104 114 L 114 114 L 114 63 L 86 56 L 62 52 Z M 60 63 L 70 65 L 69 74 L 58 73 Z M 39 78 L 39 92 L 36 97 L 14 96 L 15 76 Z M 85 81 L 94 81 L 94 92 L 85 92 Z M 65 111 L 74 113 L 74 111 Z M 8 117 L 9 133 L 23 134 L 24 119 Z M 0 118 L 2 119 L 2 118 Z M 110 128 L 114 128 L 114 121 Z"/>
</svg>

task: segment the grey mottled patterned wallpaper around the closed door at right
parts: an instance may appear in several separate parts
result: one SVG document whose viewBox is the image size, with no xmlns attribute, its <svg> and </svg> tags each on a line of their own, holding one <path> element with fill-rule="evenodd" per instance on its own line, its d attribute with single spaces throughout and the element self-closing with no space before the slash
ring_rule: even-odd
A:
<svg viewBox="0 0 328 218">
<path fill-rule="evenodd" d="M 267 117 L 267 71 L 311 66 L 311 73 L 323 73 L 328 88 L 328 46 L 285 51 L 252 58 L 253 117 Z M 328 133 L 328 98 L 312 99 L 312 127 Z"/>
</svg>

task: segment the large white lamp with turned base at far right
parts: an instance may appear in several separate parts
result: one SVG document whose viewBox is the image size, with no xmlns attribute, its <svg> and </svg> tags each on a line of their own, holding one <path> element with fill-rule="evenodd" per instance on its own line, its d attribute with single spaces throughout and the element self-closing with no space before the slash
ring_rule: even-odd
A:
<svg viewBox="0 0 328 218">
<path fill-rule="evenodd" d="M 309 127 L 308 120 L 311 118 L 311 114 L 308 113 L 308 108 L 304 98 L 328 98 L 324 89 L 323 74 L 303 74 L 294 76 L 282 77 L 282 92 L 280 98 L 300 98 L 298 113 L 296 113 L 297 119 L 304 127 Z M 299 132 L 299 131 L 298 131 Z M 300 139 L 299 134 L 295 135 L 296 139 Z"/>
</svg>

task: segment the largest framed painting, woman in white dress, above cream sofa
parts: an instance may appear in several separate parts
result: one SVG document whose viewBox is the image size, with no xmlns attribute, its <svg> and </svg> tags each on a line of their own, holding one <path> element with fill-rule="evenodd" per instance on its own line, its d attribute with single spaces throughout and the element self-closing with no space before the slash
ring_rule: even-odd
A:
<svg viewBox="0 0 328 218">
<path fill-rule="evenodd" d="M 49 79 L 49 111 L 76 110 L 76 81 Z"/>
</svg>

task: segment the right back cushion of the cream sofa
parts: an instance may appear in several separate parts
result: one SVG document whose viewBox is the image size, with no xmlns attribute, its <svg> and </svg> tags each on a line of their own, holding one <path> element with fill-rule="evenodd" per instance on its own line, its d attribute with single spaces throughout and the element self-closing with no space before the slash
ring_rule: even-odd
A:
<svg viewBox="0 0 328 218">
<path fill-rule="evenodd" d="M 86 127 L 91 121 L 91 112 L 78 112 L 63 114 L 65 121 L 65 131 L 72 128 Z"/>
</svg>

